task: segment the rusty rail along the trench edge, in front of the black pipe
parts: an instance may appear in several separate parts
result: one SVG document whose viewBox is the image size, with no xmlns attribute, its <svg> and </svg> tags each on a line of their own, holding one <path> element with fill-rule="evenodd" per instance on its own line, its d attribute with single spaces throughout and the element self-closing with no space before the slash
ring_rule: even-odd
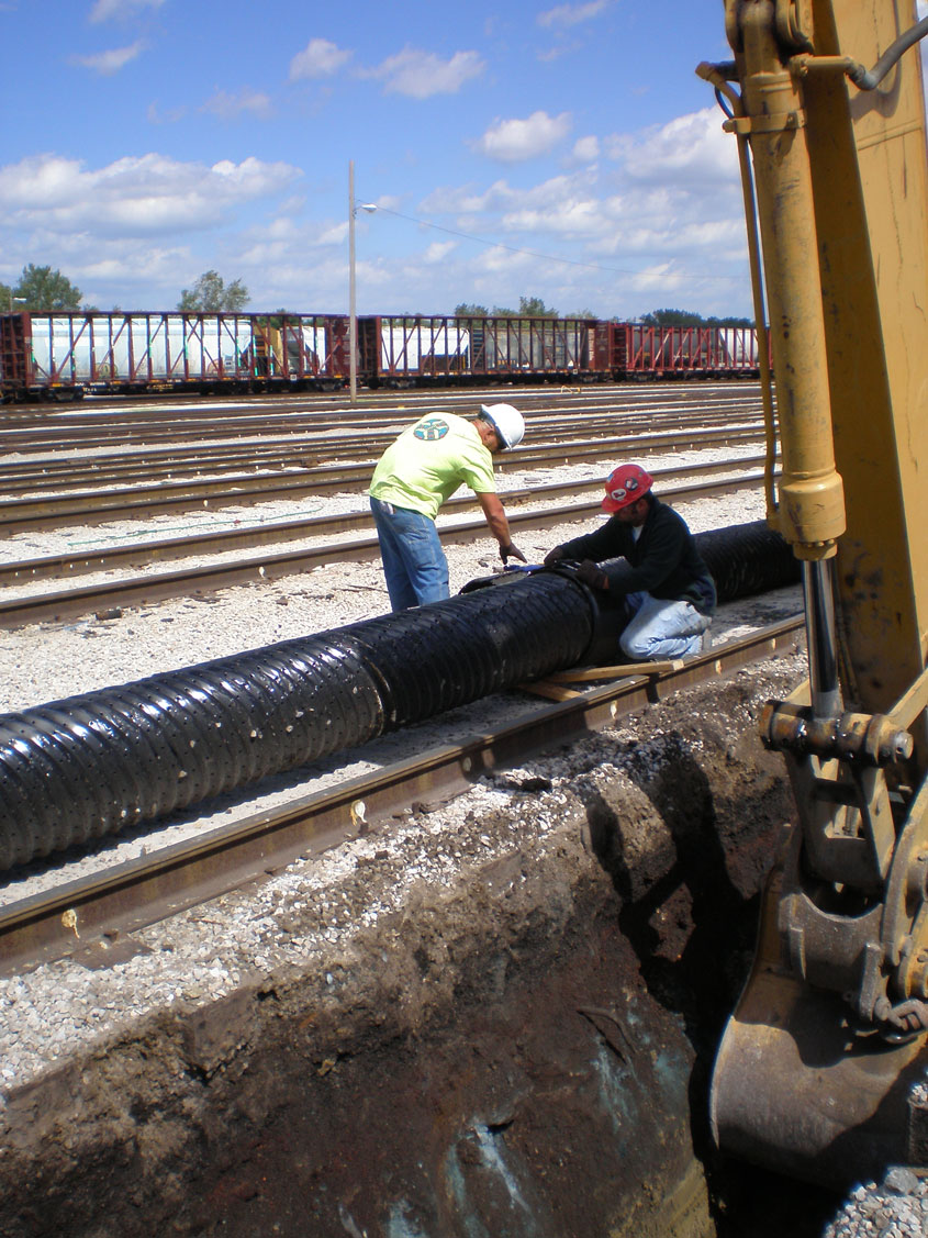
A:
<svg viewBox="0 0 928 1238">
<path fill-rule="evenodd" d="M 283 807 L 6 904 L 0 907 L 0 974 L 82 953 L 99 966 L 124 933 L 262 880 L 299 855 L 379 828 L 413 800 L 458 795 L 481 774 L 599 730 L 668 692 L 798 649 L 803 631 L 803 617 L 797 615 L 714 647 L 677 671 L 637 675 L 588 688 L 569 701 L 536 706 L 499 730 L 432 748 L 334 790 L 298 796 Z"/>
</svg>

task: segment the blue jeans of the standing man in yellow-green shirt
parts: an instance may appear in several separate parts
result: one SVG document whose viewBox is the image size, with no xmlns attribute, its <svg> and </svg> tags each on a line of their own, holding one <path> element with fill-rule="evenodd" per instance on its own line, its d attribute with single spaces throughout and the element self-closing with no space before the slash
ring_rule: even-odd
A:
<svg viewBox="0 0 928 1238">
<path fill-rule="evenodd" d="M 370 509 L 393 610 L 449 597 L 448 561 L 434 520 L 374 496 Z"/>
</svg>

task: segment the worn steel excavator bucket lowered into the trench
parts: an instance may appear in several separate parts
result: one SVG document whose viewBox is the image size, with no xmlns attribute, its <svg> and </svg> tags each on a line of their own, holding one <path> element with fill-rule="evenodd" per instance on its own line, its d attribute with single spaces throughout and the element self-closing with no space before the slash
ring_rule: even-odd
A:
<svg viewBox="0 0 928 1238">
<path fill-rule="evenodd" d="M 767 884 L 754 971 L 715 1061 L 716 1144 L 838 1188 L 879 1181 L 891 1165 L 928 1164 L 926 1036 L 892 1045 L 857 1035 L 839 994 L 783 969 L 780 877 Z"/>
</svg>

